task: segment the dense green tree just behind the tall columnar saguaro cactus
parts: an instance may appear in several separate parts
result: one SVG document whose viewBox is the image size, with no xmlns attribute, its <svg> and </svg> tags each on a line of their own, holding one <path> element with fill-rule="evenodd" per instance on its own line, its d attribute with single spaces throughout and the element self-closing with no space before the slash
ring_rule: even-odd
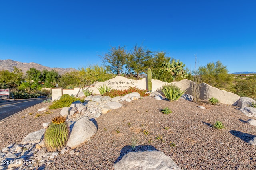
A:
<svg viewBox="0 0 256 170">
<path fill-rule="evenodd" d="M 127 59 L 128 70 L 139 79 L 143 72 L 153 66 L 152 51 L 145 47 L 134 46 L 132 52 Z"/>
</svg>

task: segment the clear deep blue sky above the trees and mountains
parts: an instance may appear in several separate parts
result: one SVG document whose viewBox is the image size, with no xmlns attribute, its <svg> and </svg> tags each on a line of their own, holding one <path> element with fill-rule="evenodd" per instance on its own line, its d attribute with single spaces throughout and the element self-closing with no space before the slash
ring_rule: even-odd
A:
<svg viewBox="0 0 256 170">
<path fill-rule="evenodd" d="M 112 46 L 166 51 L 190 69 L 220 60 L 256 71 L 254 0 L 1 0 L 0 59 L 101 64 Z"/>
</svg>

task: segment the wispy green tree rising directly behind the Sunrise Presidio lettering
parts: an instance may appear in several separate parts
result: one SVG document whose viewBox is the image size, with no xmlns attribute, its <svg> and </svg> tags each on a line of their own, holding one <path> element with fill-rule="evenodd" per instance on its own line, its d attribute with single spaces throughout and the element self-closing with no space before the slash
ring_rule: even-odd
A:
<svg viewBox="0 0 256 170">
<path fill-rule="evenodd" d="M 111 49 L 104 56 L 100 56 L 102 59 L 102 66 L 105 66 L 107 70 L 118 76 L 126 76 L 127 74 L 127 58 L 129 53 L 125 47 L 111 47 Z"/>
</svg>

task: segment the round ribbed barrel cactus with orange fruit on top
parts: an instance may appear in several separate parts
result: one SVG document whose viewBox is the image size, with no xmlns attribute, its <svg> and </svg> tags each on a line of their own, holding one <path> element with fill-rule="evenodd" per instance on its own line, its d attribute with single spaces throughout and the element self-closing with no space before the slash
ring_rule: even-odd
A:
<svg viewBox="0 0 256 170">
<path fill-rule="evenodd" d="M 47 127 L 44 134 L 44 144 L 48 152 L 55 152 L 66 146 L 69 136 L 69 127 L 66 118 L 56 116 Z"/>
</svg>

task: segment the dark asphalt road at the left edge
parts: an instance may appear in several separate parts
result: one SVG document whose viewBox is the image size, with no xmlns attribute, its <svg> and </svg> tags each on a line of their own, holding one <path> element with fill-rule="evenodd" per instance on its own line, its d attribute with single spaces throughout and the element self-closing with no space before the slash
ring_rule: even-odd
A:
<svg viewBox="0 0 256 170">
<path fill-rule="evenodd" d="M 0 103 L 0 120 L 18 113 L 28 107 L 47 100 L 48 98 L 20 99 Z"/>
</svg>

